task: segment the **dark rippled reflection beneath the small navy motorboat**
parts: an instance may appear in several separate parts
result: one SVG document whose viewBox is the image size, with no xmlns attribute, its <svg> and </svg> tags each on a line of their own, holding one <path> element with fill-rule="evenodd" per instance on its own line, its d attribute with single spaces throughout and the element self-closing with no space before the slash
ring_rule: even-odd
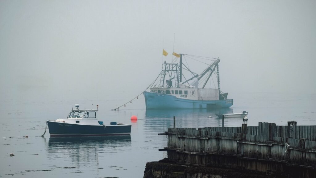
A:
<svg viewBox="0 0 316 178">
<path fill-rule="evenodd" d="M 48 141 L 48 158 L 68 159 L 76 163 L 96 163 L 99 157 L 112 152 L 131 150 L 131 136 L 107 137 L 50 137 Z"/>
</svg>

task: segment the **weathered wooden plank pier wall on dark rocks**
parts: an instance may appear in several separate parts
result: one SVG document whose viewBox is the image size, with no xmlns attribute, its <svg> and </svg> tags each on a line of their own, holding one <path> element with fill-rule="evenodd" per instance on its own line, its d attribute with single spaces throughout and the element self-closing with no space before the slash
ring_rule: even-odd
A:
<svg viewBox="0 0 316 178">
<path fill-rule="evenodd" d="M 179 165 L 245 170 L 277 177 L 316 177 L 316 126 L 168 128 L 167 160 Z"/>
</svg>

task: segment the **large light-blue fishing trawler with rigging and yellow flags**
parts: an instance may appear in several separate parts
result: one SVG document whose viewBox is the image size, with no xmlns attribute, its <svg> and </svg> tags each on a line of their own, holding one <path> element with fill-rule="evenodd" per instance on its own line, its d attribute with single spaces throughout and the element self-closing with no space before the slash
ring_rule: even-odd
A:
<svg viewBox="0 0 316 178">
<path fill-rule="evenodd" d="M 143 92 L 146 109 L 212 109 L 228 108 L 233 105 L 233 99 L 227 99 L 228 93 L 222 93 L 220 89 L 219 58 L 176 53 L 173 53 L 173 55 L 179 58 L 179 64 L 175 62 L 166 63 L 165 61 L 155 82 L 149 86 L 149 90 Z M 182 63 L 182 58 L 185 56 L 206 59 L 211 63 L 207 64 L 208 66 L 201 74 L 197 74 Z M 173 61 L 176 61 L 177 58 Z M 182 77 L 184 77 L 183 69 L 188 71 L 191 77 L 185 79 L 185 81 L 182 81 Z M 212 74 L 216 74 L 217 88 L 204 88 Z M 157 80 L 159 77 L 160 81 Z"/>
</svg>

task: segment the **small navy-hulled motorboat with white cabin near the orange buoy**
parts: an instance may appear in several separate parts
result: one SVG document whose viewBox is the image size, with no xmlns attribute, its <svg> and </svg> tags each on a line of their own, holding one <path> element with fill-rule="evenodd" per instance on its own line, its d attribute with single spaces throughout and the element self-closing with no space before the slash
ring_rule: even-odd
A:
<svg viewBox="0 0 316 178">
<path fill-rule="evenodd" d="M 97 120 L 98 109 L 79 109 L 75 105 L 66 119 L 47 121 L 51 137 L 64 136 L 109 136 L 130 135 L 131 125 L 110 122 L 105 125 L 103 121 Z M 98 105 L 97 105 L 98 107 Z"/>
</svg>

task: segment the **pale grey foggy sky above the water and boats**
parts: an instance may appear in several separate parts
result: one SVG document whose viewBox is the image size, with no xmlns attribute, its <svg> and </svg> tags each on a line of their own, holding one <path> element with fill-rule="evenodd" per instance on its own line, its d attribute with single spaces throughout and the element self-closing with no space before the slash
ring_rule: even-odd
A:
<svg viewBox="0 0 316 178">
<path fill-rule="evenodd" d="M 1 99 L 131 99 L 173 51 L 219 57 L 228 98 L 315 94 L 315 9 L 313 0 L 1 0 Z"/>
</svg>

